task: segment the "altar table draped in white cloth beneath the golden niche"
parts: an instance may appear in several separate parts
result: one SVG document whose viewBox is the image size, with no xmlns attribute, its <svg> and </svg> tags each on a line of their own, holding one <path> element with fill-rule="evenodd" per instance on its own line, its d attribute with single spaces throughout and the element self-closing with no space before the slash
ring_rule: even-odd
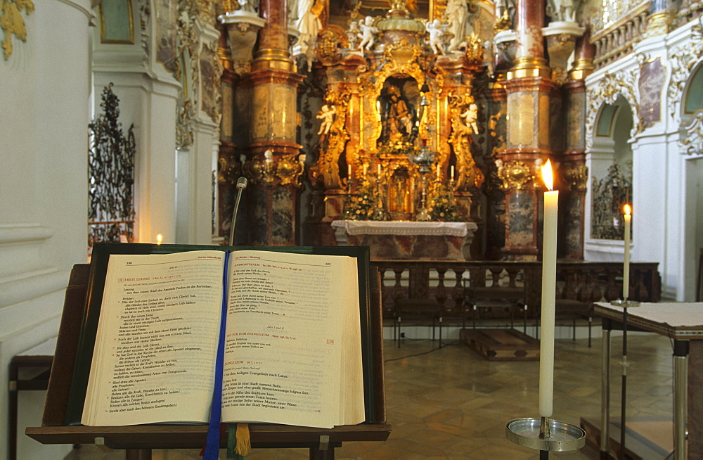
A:
<svg viewBox="0 0 703 460">
<path fill-rule="evenodd" d="M 372 259 L 470 260 L 475 222 L 335 220 L 338 245 L 368 246 Z"/>
</svg>

